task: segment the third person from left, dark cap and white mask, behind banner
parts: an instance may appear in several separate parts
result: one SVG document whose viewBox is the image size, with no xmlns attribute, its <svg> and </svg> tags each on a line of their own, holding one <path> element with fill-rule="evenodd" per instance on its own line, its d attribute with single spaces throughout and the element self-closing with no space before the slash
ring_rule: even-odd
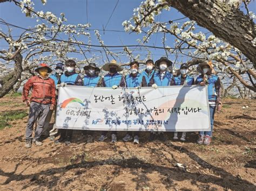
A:
<svg viewBox="0 0 256 191">
<path fill-rule="evenodd" d="M 67 60 L 65 62 L 66 71 L 60 76 L 60 86 L 73 85 L 73 86 L 83 86 L 82 77 L 76 73 L 75 67 L 76 62 L 73 60 Z M 60 144 L 65 142 L 69 145 L 72 140 L 73 130 L 72 129 L 59 129 L 60 137 L 55 140 L 55 144 Z"/>
</svg>

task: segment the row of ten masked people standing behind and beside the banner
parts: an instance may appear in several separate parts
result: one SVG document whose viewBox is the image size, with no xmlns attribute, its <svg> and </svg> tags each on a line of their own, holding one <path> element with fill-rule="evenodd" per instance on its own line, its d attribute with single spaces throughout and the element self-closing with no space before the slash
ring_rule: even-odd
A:
<svg viewBox="0 0 256 191">
<path fill-rule="evenodd" d="M 70 144 L 72 140 L 73 130 L 71 129 L 56 129 L 53 125 L 49 129 L 53 111 L 56 114 L 56 100 L 58 97 L 58 87 L 63 84 L 74 86 L 88 86 L 88 87 L 110 87 L 117 89 L 118 87 L 153 87 L 157 89 L 161 86 L 190 86 L 193 84 L 200 84 L 208 88 L 208 102 L 210 104 L 210 119 L 211 130 L 199 132 L 198 144 L 209 145 L 211 143 L 213 119 L 215 110 L 220 110 L 221 103 L 221 86 L 220 79 L 215 74 L 212 62 L 200 63 L 197 67 L 200 75 L 196 81 L 194 77 L 188 75 L 188 65 L 183 63 L 180 66 L 178 75 L 174 76 L 172 70 L 172 62 L 166 57 L 161 57 L 154 62 L 149 59 L 145 62 L 146 68 L 142 73 L 139 73 L 139 62 L 132 61 L 130 63 L 130 74 L 122 75 L 119 72 L 123 70 L 115 60 L 106 63 L 102 69 L 107 72 L 105 76 L 100 76 L 100 68 L 96 63 L 89 63 L 84 67 L 85 76 L 82 78 L 76 73 L 76 62 L 68 60 L 63 63 L 57 63 L 55 73 L 45 63 L 41 63 L 36 72 L 38 75 L 30 77 L 24 84 L 23 88 L 23 102 L 30 107 L 29 120 L 26 126 L 26 148 L 30 148 L 32 143 L 41 146 L 41 138 L 49 136 L 55 144 Z M 32 89 L 31 97 L 29 98 L 29 91 Z M 32 137 L 33 126 L 37 123 L 35 136 Z M 82 131 L 87 135 L 87 142 L 92 142 L 93 131 Z M 60 135 L 56 139 L 57 135 Z M 99 141 L 103 142 L 107 139 L 107 131 L 102 131 Z M 139 132 L 127 132 L 123 138 L 124 142 L 133 139 L 133 143 L 139 143 Z M 165 141 L 166 138 L 163 132 L 150 132 L 149 140 L 159 139 Z M 178 139 L 178 132 L 174 132 L 174 140 Z M 186 140 L 186 132 L 182 132 L 180 140 Z M 111 131 L 111 142 L 117 141 L 117 131 Z"/>
</svg>

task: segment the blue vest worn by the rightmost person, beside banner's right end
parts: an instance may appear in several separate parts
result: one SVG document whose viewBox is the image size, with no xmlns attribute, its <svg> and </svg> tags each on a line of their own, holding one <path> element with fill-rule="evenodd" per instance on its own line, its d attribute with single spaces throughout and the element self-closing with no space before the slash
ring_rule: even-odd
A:
<svg viewBox="0 0 256 191">
<path fill-rule="evenodd" d="M 211 74 L 208 75 L 208 100 L 209 101 L 215 101 L 217 94 L 216 94 L 216 89 L 215 89 L 215 83 L 218 80 L 218 76 Z M 197 77 L 196 83 L 200 83 L 203 81 L 203 75 L 200 75 Z"/>
</svg>

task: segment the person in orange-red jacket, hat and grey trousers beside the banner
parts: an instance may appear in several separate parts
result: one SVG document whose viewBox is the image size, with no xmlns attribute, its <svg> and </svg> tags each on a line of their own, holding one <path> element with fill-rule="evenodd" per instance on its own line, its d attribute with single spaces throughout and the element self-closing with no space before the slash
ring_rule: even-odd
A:
<svg viewBox="0 0 256 191">
<path fill-rule="evenodd" d="M 22 100 L 29 108 L 29 120 L 26 125 L 26 148 L 30 148 L 33 142 L 37 146 L 43 145 L 40 141 L 45 118 L 49 110 L 53 110 L 56 102 L 55 98 L 55 83 L 48 74 L 51 73 L 51 68 L 46 63 L 41 63 L 35 70 L 39 75 L 32 76 L 24 84 Z M 31 98 L 29 100 L 29 91 L 32 89 Z M 32 138 L 33 125 L 37 121 L 35 136 Z"/>
</svg>

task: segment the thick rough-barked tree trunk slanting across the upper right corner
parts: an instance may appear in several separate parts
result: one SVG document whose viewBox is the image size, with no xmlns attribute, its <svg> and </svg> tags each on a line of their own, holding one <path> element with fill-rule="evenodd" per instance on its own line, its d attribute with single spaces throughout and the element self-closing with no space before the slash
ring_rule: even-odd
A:
<svg viewBox="0 0 256 191">
<path fill-rule="evenodd" d="M 213 0 L 167 0 L 173 8 L 195 20 L 199 26 L 211 31 L 238 48 L 256 67 L 256 27 L 252 19 L 237 8 Z"/>
</svg>

